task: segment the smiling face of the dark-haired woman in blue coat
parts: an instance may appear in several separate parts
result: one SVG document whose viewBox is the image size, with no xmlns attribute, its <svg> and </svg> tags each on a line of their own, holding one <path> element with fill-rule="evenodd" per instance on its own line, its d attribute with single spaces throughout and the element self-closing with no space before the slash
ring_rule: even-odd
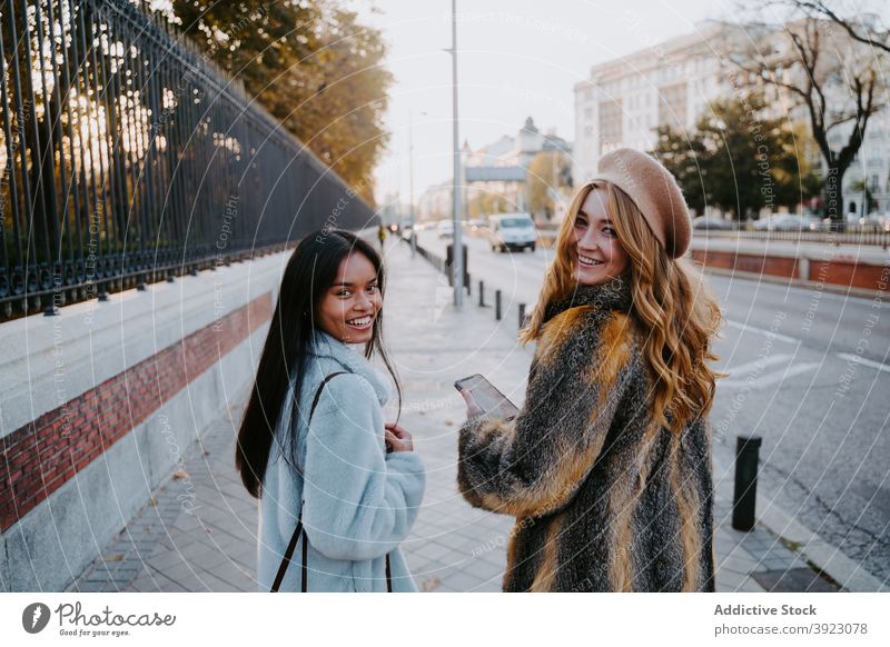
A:
<svg viewBox="0 0 890 647">
<path fill-rule="evenodd" d="M 353 251 L 340 261 L 337 278 L 318 303 L 318 327 L 344 344 L 367 344 L 383 298 L 374 263 Z"/>
</svg>

